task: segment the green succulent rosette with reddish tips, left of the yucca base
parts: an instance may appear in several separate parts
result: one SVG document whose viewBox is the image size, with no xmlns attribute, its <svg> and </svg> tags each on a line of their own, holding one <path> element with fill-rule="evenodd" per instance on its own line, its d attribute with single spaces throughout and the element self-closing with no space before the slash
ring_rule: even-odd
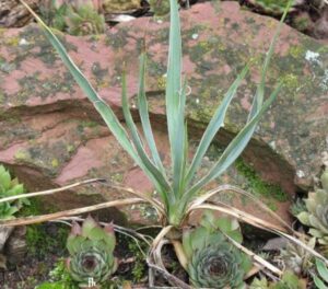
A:
<svg viewBox="0 0 328 289">
<path fill-rule="evenodd" d="M 81 287 L 87 287 L 91 278 L 102 284 L 115 273 L 115 242 L 113 224 L 101 228 L 91 217 L 84 220 L 82 228 L 78 223 L 73 224 L 67 241 L 70 253 L 68 268 Z"/>
</svg>

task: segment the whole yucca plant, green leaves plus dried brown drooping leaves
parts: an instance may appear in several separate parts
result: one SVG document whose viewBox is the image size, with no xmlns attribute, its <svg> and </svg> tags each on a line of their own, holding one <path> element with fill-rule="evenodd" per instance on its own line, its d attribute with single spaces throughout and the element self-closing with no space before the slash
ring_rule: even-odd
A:
<svg viewBox="0 0 328 289">
<path fill-rule="evenodd" d="M 23 0 L 21 0 L 23 2 Z M 285 18 L 286 12 L 289 11 L 289 5 L 284 11 Z M 143 137 L 137 129 L 137 126 L 132 119 L 128 96 L 127 96 L 127 85 L 126 85 L 126 76 L 122 74 L 122 92 L 121 92 L 121 101 L 122 101 L 122 112 L 126 119 L 125 128 L 119 119 L 114 114 L 113 109 L 108 104 L 106 104 L 96 93 L 94 88 L 87 81 L 87 79 L 83 76 L 83 73 L 75 66 L 73 60 L 69 57 L 67 50 L 59 42 L 57 36 L 51 32 L 49 27 L 44 24 L 44 22 L 32 11 L 30 10 L 38 23 L 40 24 L 46 37 L 49 39 L 51 45 L 58 51 L 60 58 L 62 59 L 66 67 L 69 69 L 77 83 L 86 94 L 89 100 L 94 104 L 97 112 L 102 115 L 106 125 L 116 137 L 117 141 L 120 146 L 130 154 L 133 161 L 143 170 L 144 174 L 151 180 L 154 185 L 154 188 L 159 193 L 159 199 L 147 196 L 145 194 L 141 194 L 139 192 L 134 192 L 132 189 L 125 188 L 125 190 L 130 192 L 131 194 L 137 195 L 138 198 L 125 198 L 122 200 L 104 203 L 86 208 L 74 209 L 70 211 L 62 212 L 61 215 L 55 213 L 49 216 L 42 216 L 31 218 L 30 220 L 20 220 L 20 223 L 32 223 L 35 221 L 45 221 L 54 218 L 58 218 L 59 216 L 68 216 L 74 213 L 82 213 L 85 211 L 95 210 L 97 208 L 105 208 L 110 206 L 124 206 L 131 204 L 140 204 L 140 203 L 149 203 L 154 209 L 157 211 L 161 223 L 163 226 L 162 231 L 154 239 L 152 248 L 150 251 L 150 257 L 148 258 L 149 264 L 150 261 L 154 261 L 156 265 L 155 268 L 159 270 L 163 270 L 163 263 L 161 263 L 160 257 L 160 248 L 163 245 L 164 238 L 168 239 L 177 253 L 177 256 L 181 263 L 185 264 L 186 254 L 183 250 L 181 244 L 181 235 L 183 228 L 188 227 L 188 217 L 191 212 L 199 209 L 210 209 L 218 210 L 230 216 L 242 219 L 243 221 L 249 222 L 253 226 L 257 226 L 261 229 L 271 230 L 273 232 L 279 232 L 280 234 L 293 240 L 296 243 L 301 243 L 294 238 L 283 233 L 282 227 L 272 226 L 268 222 L 262 221 L 249 213 L 237 210 L 231 206 L 222 205 L 222 204 L 213 204 L 209 203 L 208 199 L 213 195 L 218 194 L 222 190 L 232 189 L 231 186 L 222 186 L 211 192 L 199 194 L 207 184 L 211 181 L 220 176 L 224 173 L 233 162 L 241 155 L 247 143 L 249 142 L 261 116 L 266 113 L 269 106 L 272 104 L 274 99 L 277 97 L 279 91 L 281 90 L 282 84 L 279 83 L 277 88 L 271 92 L 269 97 L 265 100 L 265 80 L 268 70 L 268 66 L 270 62 L 271 55 L 273 53 L 274 43 L 277 36 L 279 34 L 281 24 L 276 33 L 276 36 L 272 39 L 269 51 L 267 53 L 266 59 L 263 61 L 263 66 L 261 68 L 261 80 L 258 84 L 257 91 L 255 93 L 255 99 L 253 101 L 253 105 L 250 108 L 250 113 L 247 118 L 247 123 L 243 129 L 235 136 L 235 138 L 231 141 L 231 143 L 225 148 L 224 152 L 221 154 L 218 162 L 209 170 L 209 172 L 201 177 L 197 177 L 197 172 L 202 163 L 202 159 L 209 149 L 213 138 L 216 132 L 224 124 L 225 114 L 227 107 L 236 94 L 236 91 L 239 84 L 245 79 L 245 76 L 248 72 L 248 66 L 246 66 L 236 80 L 232 83 L 231 88 L 225 93 L 221 105 L 216 108 L 213 114 L 212 119 L 210 120 L 204 134 L 200 140 L 200 143 L 196 150 L 196 153 L 191 161 L 188 160 L 188 132 L 187 132 L 187 124 L 185 118 L 185 106 L 186 106 L 186 88 L 187 81 L 183 80 L 181 77 L 181 36 L 180 36 L 180 23 L 178 16 L 178 4 L 176 0 L 169 0 L 171 4 L 171 27 L 169 27 L 169 47 L 168 47 L 168 63 L 167 63 L 167 83 L 165 91 L 165 100 L 166 100 L 166 117 L 167 117 L 167 131 L 169 139 L 169 149 L 171 149 L 171 160 L 172 165 L 168 171 L 164 167 L 162 160 L 160 158 L 160 153 L 156 149 L 155 140 L 153 137 L 149 112 L 148 112 L 148 103 L 145 97 L 145 67 L 147 67 L 147 55 L 143 50 L 140 56 L 140 81 L 139 81 L 139 91 L 138 91 L 138 108 L 140 114 L 140 119 L 142 124 L 142 132 Z M 281 23 L 282 23 L 281 21 Z M 144 139 L 144 142 L 143 142 Z M 148 153 L 147 148 L 149 148 L 150 153 Z M 172 177 L 168 177 L 172 175 Z M 242 190 L 237 188 L 233 188 L 234 190 L 241 193 Z M 40 193 L 35 193 L 37 195 Z M 251 197 L 249 194 L 247 195 L 245 192 L 242 194 Z M 199 196 L 200 195 L 200 196 Z M 254 201 L 258 200 L 255 197 L 251 197 Z M 261 205 L 262 206 L 262 205 Z M 268 210 L 267 210 L 268 211 Z M 272 215 L 272 212 L 270 212 Z M 278 220 L 281 221 L 279 217 L 276 216 Z M 16 222 L 19 223 L 19 222 Z M 283 223 L 283 221 L 281 221 Z M 289 226 L 283 223 L 286 228 L 290 229 Z M 292 231 L 292 229 L 290 229 Z M 233 239 L 229 239 L 232 244 L 237 247 L 242 247 L 242 245 L 235 242 Z M 304 245 L 306 246 L 306 245 Z M 312 248 L 307 248 L 312 250 Z M 248 252 L 244 248 L 245 252 Z M 312 251 L 312 253 L 319 258 L 323 258 L 327 264 L 323 256 L 318 253 Z M 253 255 L 254 254 L 249 254 Z M 236 258 L 237 259 L 237 258 Z M 257 262 L 260 261 L 259 257 L 256 258 Z M 274 274 L 281 275 L 282 273 L 277 269 L 274 266 L 261 261 L 261 264 L 265 264 L 269 269 L 271 269 Z M 153 263 L 152 263 L 153 264 Z M 166 273 L 165 273 L 166 274 Z"/>
</svg>

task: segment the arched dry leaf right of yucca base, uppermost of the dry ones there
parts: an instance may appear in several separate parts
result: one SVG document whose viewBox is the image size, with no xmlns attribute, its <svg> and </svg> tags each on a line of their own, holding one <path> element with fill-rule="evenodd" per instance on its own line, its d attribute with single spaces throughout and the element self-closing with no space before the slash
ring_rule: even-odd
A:
<svg viewBox="0 0 328 289">
<path fill-rule="evenodd" d="M 234 192 L 237 193 L 239 195 L 246 196 L 249 199 L 251 199 L 253 201 L 255 201 L 260 209 L 262 209 L 263 211 L 268 212 L 271 217 L 273 217 L 276 220 L 278 220 L 281 224 L 283 224 L 288 230 L 290 230 L 292 233 L 295 233 L 295 231 L 293 230 L 293 228 L 291 226 L 289 226 L 282 218 L 280 218 L 280 216 L 278 216 L 274 211 L 272 211 L 266 204 L 263 204 L 262 201 L 260 201 L 258 198 L 256 198 L 254 195 L 249 194 L 248 192 L 236 187 L 236 186 L 232 186 L 232 185 L 222 185 L 219 186 L 210 192 L 208 192 L 207 194 L 196 198 L 194 200 L 194 203 L 190 205 L 190 209 L 192 209 L 194 207 L 197 207 L 203 203 L 206 203 L 208 199 L 210 199 L 211 197 L 213 197 L 214 195 L 221 193 L 221 192 Z"/>
</svg>

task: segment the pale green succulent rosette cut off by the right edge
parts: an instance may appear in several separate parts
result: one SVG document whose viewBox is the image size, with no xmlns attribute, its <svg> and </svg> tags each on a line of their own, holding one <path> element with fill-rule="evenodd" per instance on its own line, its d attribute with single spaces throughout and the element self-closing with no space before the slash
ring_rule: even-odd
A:
<svg viewBox="0 0 328 289">
<path fill-rule="evenodd" d="M 319 244 L 328 245 L 328 169 L 320 177 L 323 188 L 308 194 L 305 199 L 306 211 L 297 215 L 297 219 L 311 227 L 309 233 L 317 238 Z"/>
</svg>

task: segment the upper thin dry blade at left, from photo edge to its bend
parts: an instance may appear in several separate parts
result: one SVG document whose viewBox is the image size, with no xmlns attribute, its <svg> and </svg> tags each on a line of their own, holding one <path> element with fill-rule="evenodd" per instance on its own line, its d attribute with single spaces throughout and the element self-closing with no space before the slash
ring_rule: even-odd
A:
<svg viewBox="0 0 328 289">
<path fill-rule="evenodd" d="M 36 192 L 36 193 L 27 193 L 27 194 L 22 194 L 22 195 L 17 195 L 17 196 L 5 197 L 5 198 L 1 198 L 0 199 L 0 204 L 1 203 L 5 203 L 5 201 L 11 201 L 11 200 L 20 199 L 20 198 L 31 198 L 31 197 L 37 197 L 37 196 L 52 195 L 52 194 L 56 194 L 56 193 L 59 193 L 59 192 L 71 189 L 73 187 L 89 185 L 89 184 L 92 184 L 92 183 L 102 183 L 105 180 L 103 180 L 103 178 L 91 178 L 91 180 L 85 180 L 85 181 L 77 182 L 74 184 L 71 184 L 71 185 L 68 185 L 68 186 L 63 186 L 63 187 L 51 188 L 51 189 Z"/>
</svg>

